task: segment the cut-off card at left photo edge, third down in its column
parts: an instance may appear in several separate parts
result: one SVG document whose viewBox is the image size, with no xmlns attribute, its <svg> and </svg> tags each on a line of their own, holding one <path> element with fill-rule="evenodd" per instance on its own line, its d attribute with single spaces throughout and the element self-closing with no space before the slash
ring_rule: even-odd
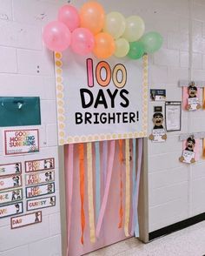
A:
<svg viewBox="0 0 205 256">
<path fill-rule="evenodd" d="M 0 205 L 23 200 L 23 189 L 0 192 Z"/>
</svg>

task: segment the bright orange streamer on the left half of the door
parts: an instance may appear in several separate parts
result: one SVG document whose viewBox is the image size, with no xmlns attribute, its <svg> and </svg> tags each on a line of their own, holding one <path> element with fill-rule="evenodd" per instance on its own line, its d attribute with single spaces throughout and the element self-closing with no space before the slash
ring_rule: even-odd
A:
<svg viewBox="0 0 205 256">
<path fill-rule="evenodd" d="M 80 196 L 81 196 L 81 243 L 84 243 L 85 213 L 84 213 L 84 188 L 85 188 L 85 170 L 84 170 L 84 148 L 83 143 L 78 145 L 79 171 L 80 171 Z"/>
</svg>

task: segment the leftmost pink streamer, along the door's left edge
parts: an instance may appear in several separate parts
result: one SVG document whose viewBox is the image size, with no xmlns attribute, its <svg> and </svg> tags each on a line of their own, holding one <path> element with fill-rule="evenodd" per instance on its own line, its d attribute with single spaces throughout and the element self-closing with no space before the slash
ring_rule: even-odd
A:
<svg viewBox="0 0 205 256">
<path fill-rule="evenodd" d="M 67 255 L 69 255 L 69 235 L 72 212 L 72 198 L 73 198 L 73 149 L 74 145 L 65 146 L 65 184 L 66 184 L 66 199 L 67 199 Z"/>
</svg>

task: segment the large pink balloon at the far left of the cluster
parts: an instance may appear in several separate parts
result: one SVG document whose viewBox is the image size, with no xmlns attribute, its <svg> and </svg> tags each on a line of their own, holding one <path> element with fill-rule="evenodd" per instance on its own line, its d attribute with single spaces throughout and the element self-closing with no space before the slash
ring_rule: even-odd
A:
<svg viewBox="0 0 205 256">
<path fill-rule="evenodd" d="M 43 42 L 51 51 L 64 51 L 71 43 L 71 33 L 66 25 L 53 21 L 43 29 Z"/>
</svg>

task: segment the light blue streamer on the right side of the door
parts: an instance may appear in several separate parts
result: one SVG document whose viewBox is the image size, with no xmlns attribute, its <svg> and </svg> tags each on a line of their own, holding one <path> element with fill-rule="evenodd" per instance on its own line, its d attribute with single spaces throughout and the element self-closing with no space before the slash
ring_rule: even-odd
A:
<svg viewBox="0 0 205 256">
<path fill-rule="evenodd" d="M 132 165 L 132 208 L 133 211 L 136 207 L 136 199 L 135 199 L 135 190 L 136 190 L 136 138 L 132 139 L 132 158 L 133 158 L 133 165 Z M 134 233 L 135 230 L 135 214 L 132 214 L 132 229 L 131 229 L 131 234 Z"/>
</svg>

